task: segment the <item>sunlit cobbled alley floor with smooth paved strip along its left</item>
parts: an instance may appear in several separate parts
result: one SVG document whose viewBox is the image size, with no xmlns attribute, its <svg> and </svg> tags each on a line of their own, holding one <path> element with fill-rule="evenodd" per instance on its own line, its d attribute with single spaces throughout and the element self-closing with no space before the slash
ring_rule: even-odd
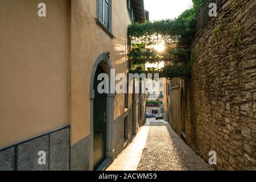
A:
<svg viewBox="0 0 256 182">
<path fill-rule="evenodd" d="M 146 142 L 142 133 L 147 135 Z M 167 122 L 151 118 L 108 170 L 179 171 L 212 170 L 212 167 L 196 155 Z"/>
</svg>

